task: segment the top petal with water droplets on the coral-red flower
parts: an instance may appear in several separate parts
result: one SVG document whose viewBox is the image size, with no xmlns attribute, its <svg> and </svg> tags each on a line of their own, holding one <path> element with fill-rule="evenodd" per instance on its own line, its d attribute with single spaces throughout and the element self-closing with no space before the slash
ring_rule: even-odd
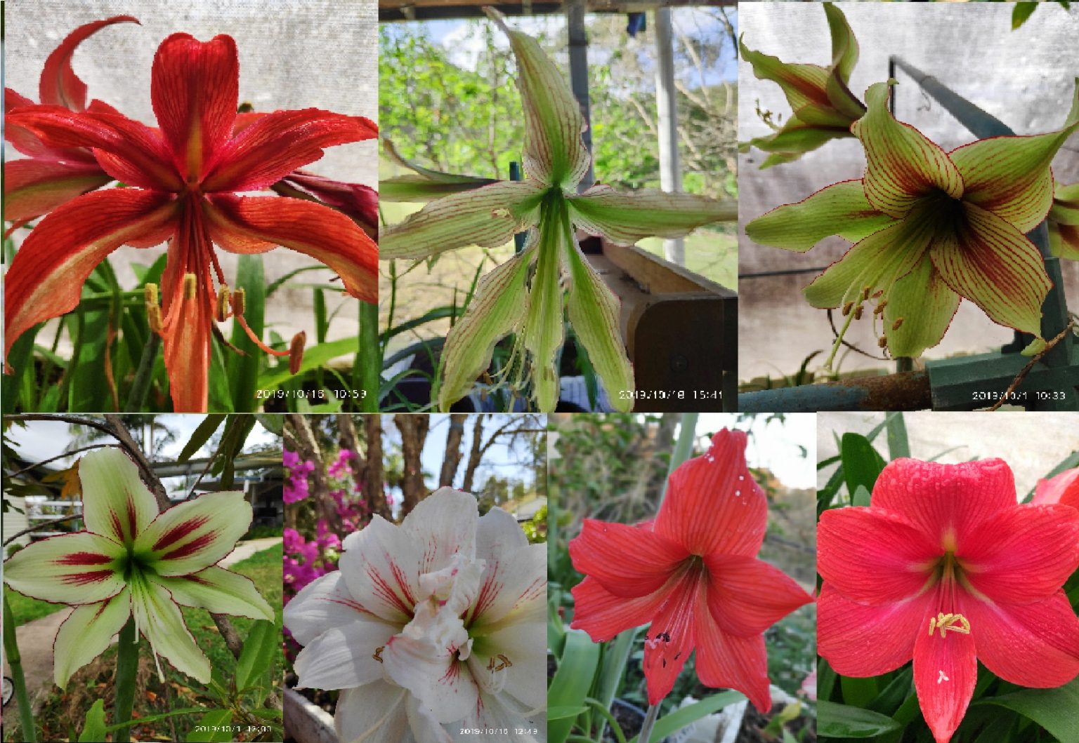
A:
<svg viewBox="0 0 1079 743">
<path fill-rule="evenodd" d="M 655 531 L 694 554 L 752 558 L 761 551 L 767 519 L 764 491 L 746 468 L 746 432 L 724 428 L 708 453 L 671 473 Z"/>
</svg>

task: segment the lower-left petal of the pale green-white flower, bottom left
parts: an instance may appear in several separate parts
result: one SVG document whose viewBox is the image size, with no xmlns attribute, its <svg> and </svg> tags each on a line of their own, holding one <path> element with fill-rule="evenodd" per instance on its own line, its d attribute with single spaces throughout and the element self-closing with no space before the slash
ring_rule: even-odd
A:
<svg viewBox="0 0 1079 743">
<path fill-rule="evenodd" d="M 53 678 L 67 690 L 71 674 L 105 652 L 132 616 L 131 591 L 124 589 L 97 604 L 76 607 L 53 643 Z"/>
</svg>

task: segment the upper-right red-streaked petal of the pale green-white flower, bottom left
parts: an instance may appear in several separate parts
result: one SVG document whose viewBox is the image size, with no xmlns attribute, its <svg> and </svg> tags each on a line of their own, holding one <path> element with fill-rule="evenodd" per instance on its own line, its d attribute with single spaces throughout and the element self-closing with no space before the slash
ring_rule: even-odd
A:
<svg viewBox="0 0 1079 743">
<path fill-rule="evenodd" d="M 251 505 L 240 491 L 206 493 L 173 506 L 135 540 L 159 576 L 197 573 L 217 563 L 251 525 Z"/>
</svg>

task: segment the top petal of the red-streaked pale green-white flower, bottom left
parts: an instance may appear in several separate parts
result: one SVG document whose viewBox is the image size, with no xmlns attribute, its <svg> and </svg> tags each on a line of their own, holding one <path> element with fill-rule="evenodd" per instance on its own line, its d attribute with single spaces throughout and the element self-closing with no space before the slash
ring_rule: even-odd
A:
<svg viewBox="0 0 1079 743">
<path fill-rule="evenodd" d="M 138 467 L 120 449 L 99 449 L 79 460 L 86 528 L 120 545 L 133 545 L 158 515 L 158 501 Z"/>
</svg>

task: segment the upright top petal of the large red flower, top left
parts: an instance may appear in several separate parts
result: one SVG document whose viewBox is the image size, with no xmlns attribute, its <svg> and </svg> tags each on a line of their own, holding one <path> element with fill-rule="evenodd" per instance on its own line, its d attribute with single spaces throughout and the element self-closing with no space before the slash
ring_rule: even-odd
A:
<svg viewBox="0 0 1079 743">
<path fill-rule="evenodd" d="M 180 175 L 201 180 L 232 136 L 240 99 L 236 42 L 224 35 L 206 43 L 172 35 L 153 58 L 150 96 Z"/>
</svg>

